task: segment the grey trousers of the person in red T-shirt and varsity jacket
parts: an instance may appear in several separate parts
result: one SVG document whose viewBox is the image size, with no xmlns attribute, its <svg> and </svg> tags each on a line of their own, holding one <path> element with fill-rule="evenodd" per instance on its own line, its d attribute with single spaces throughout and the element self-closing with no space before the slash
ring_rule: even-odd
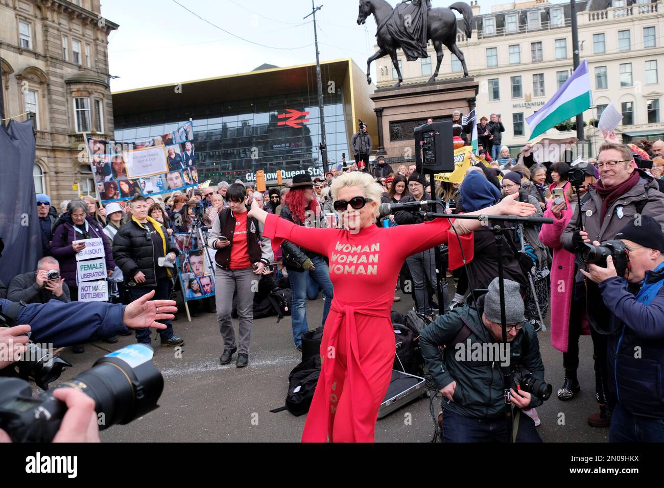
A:
<svg viewBox="0 0 664 488">
<path fill-rule="evenodd" d="M 219 332 L 224 339 L 224 349 L 235 347 L 235 333 L 230 314 L 233 311 L 233 295 L 237 288 L 237 305 L 240 326 L 238 327 L 238 353 L 249 353 L 251 328 L 254 324 L 254 290 L 258 289 L 260 275 L 252 268 L 224 270 L 217 266 L 214 272 L 216 318 Z"/>
</svg>

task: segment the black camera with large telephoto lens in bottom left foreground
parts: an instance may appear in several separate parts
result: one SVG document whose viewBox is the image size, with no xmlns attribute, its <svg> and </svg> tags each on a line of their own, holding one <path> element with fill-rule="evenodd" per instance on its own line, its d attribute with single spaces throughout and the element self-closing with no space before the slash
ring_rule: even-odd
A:
<svg viewBox="0 0 664 488">
<path fill-rule="evenodd" d="M 55 388 L 70 386 L 96 404 L 100 430 L 128 424 L 158 407 L 163 377 L 152 363 L 151 348 L 133 344 L 98 360 L 92 368 Z M 60 428 L 66 406 L 52 391 L 31 396 L 18 378 L 0 379 L 0 428 L 14 442 L 50 442 Z"/>
</svg>

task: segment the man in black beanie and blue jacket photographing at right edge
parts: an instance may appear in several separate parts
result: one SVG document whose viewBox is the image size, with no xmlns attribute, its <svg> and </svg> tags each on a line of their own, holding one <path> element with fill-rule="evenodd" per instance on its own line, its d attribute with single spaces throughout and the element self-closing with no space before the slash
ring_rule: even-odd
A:
<svg viewBox="0 0 664 488">
<path fill-rule="evenodd" d="M 664 233 L 654 218 L 641 215 L 616 239 L 627 246 L 627 282 L 610 256 L 606 268 L 582 270 L 599 284 L 614 331 L 608 339 L 609 441 L 664 442 Z"/>
</svg>

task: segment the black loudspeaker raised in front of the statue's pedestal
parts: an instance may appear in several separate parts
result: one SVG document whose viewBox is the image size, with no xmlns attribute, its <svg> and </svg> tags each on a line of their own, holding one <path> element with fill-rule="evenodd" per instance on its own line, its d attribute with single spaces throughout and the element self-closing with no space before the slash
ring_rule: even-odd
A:
<svg viewBox="0 0 664 488">
<path fill-rule="evenodd" d="M 454 142 L 452 122 L 424 123 L 415 127 L 415 163 L 422 173 L 452 173 Z"/>
</svg>

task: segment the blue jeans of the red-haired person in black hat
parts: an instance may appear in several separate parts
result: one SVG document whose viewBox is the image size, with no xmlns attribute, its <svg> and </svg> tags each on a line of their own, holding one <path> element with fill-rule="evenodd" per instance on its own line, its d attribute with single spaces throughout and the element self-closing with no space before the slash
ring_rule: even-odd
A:
<svg viewBox="0 0 664 488">
<path fill-rule="evenodd" d="M 309 282 L 309 276 L 323 289 L 323 295 L 325 296 L 323 325 L 325 325 L 325 319 L 327 319 L 327 313 L 330 311 L 330 305 L 332 304 L 333 288 L 327 263 L 320 256 L 314 256 L 311 258 L 311 264 L 314 267 L 313 271 L 288 270 L 291 291 L 293 292 L 291 321 L 293 323 L 295 347 L 301 345 L 302 334 L 309 330 L 307 326 L 307 283 Z"/>
</svg>

